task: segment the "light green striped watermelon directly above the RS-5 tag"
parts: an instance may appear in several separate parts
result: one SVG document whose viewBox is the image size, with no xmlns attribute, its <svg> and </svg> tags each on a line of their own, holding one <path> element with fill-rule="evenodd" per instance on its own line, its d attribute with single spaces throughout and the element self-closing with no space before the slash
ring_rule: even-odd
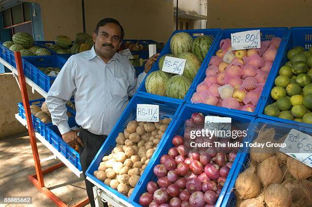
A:
<svg viewBox="0 0 312 207">
<path fill-rule="evenodd" d="M 192 43 L 193 38 L 188 33 L 176 33 L 170 40 L 171 53 L 178 55 L 182 52 L 189 52 L 192 49 Z"/>
</svg>

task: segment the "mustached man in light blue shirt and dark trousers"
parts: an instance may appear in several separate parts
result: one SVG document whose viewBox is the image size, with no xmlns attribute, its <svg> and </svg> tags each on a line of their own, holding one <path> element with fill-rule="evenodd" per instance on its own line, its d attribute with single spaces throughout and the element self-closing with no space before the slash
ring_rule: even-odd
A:
<svg viewBox="0 0 312 207">
<path fill-rule="evenodd" d="M 53 124 L 58 126 L 64 141 L 72 147 L 81 145 L 80 162 L 84 175 L 126 107 L 128 96 L 134 95 L 159 56 L 155 54 L 149 58 L 144 72 L 136 79 L 131 63 L 116 52 L 123 37 L 123 28 L 117 20 L 100 20 L 93 32 L 93 48 L 68 59 L 46 98 Z M 79 136 L 67 123 L 65 103 L 72 95 L 76 123 L 81 126 Z M 93 185 L 86 179 L 85 182 L 90 204 L 95 206 Z"/>
</svg>

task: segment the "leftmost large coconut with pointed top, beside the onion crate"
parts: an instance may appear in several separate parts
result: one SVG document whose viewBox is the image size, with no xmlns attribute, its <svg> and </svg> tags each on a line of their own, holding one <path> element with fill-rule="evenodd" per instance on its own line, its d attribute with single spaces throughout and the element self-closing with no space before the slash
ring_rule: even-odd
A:
<svg viewBox="0 0 312 207">
<path fill-rule="evenodd" d="M 255 174 L 255 167 L 250 166 L 239 174 L 236 183 L 236 191 L 241 199 L 254 198 L 261 190 L 261 182 Z"/>
</svg>

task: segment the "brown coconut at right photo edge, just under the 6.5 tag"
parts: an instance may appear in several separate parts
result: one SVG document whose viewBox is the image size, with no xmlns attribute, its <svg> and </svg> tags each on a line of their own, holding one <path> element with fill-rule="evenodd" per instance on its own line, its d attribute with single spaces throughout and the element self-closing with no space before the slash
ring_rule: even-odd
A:
<svg viewBox="0 0 312 207">
<path fill-rule="evenodd" d="M 299 162 L 298 160 L 288 157 L 287 159 L 288 171 L 294 176 L 295 179 L 308 179 L 312 176 L 312 168 Z"/>
</svg>

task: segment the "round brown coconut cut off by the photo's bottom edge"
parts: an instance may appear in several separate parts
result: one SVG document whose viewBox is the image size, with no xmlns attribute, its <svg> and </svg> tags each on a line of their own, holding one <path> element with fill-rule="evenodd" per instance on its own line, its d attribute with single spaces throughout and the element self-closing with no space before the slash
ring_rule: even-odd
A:
<svg viewBox="0 0 312 207">
<path fill-rule="evenodd" d="M 281 184 L 271 184 L 264 191 L 264 199 L 268 207 L 288 207 L 292 203 L 290 191 Z"/>
</svg>

